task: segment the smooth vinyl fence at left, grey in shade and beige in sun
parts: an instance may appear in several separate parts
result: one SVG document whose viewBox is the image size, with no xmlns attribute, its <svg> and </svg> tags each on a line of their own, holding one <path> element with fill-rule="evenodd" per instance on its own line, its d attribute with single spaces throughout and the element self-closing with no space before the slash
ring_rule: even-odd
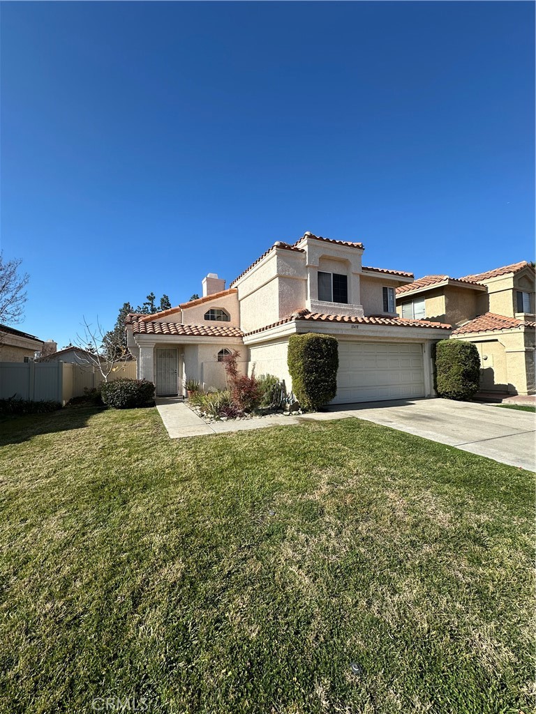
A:
<svg viewBox="0 0 536 714">
<path fill-rule="evenodd" d="M 136 362 L 116 366 L 108 381 L 136 378 Z M 104 381 L 94 367 L 66 362 L 0 362 L 0 399 L 15 397 L 31 401 L 59 401 L 64 406 Z"/>
</svg>

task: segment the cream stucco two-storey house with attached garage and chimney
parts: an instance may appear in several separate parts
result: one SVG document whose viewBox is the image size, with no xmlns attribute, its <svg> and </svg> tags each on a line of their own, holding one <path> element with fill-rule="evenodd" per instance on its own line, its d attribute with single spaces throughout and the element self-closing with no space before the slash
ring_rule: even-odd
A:
<svg viewBox="0 0 536 714">
<path fill-rule="evenodd" d="M 432 396 L 432 344 L 450 335 L 442 321 L 397 316 L 395 291 L 412 273 L 362 266 L 362 243 L 305 233 L 277 242 L 226 290 L 214 273 L 203 296 L 154 315 L 126 319 L 139 378 L 157 395 L 184 393 L 187 379 L 204 389 L 225 384 L 222 358 L 241 353 L 244 371 L 292 380 L 289 336 L 323 333 L 339 341 L 334 403 Z"/>
</svg>

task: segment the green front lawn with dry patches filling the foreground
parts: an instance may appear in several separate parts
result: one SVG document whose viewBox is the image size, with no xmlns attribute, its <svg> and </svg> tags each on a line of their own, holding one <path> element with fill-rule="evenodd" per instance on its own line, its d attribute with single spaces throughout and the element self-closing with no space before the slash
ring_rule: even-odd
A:
<svg viewBox="0 0 536 714">
<path fill-rule="evenodd" d="M 532 710 L 532 473 L 357 419 L 0 434 L 2 711 Z"/>
</svg>

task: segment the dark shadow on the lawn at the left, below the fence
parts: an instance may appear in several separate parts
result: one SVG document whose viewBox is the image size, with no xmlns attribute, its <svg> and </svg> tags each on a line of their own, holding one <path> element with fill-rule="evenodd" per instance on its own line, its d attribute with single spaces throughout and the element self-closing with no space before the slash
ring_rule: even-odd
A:
<svg viewBox="0 0 536 714">
<path fill-rule="evenodd" d="M 87 426 L 91 416 L 103 411 L 97 406 L 66 406 L 44 414 L 0 417 L 0 446 L 29 441 L 39 434 L 71 431 Z"/>
</svg>

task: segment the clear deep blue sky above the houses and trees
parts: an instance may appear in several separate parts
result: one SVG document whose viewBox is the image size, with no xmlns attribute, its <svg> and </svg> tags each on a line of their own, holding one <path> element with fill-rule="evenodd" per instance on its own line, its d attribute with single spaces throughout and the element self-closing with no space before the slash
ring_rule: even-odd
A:
<svg viewBox="0 0 536 714">
<path fill-rule="evenodd" d="M 534 253 L 528 2 L 6 3 L 1 247 L 63 346 L 304 231 L 461 276 Z"/>
</svg>

